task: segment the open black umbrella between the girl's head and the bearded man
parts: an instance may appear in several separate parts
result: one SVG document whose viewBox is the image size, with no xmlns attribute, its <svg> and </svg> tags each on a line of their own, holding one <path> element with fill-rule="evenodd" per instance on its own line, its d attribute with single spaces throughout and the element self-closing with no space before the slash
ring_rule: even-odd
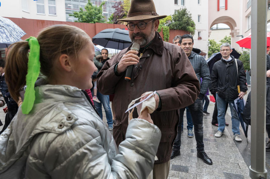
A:
<svg viewBox="0 0 270 179">
<path fill-rule="evenodd" d="M 93 43 L 103 47 L 123 50 L 130 46 L 128 30 L 105 29 L 93 37 Z"/>
</svg>

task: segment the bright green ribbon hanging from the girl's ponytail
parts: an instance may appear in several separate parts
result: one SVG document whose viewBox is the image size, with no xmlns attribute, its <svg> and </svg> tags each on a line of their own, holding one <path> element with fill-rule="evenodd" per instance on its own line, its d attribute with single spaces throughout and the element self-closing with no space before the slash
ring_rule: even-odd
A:
<svg viewBox="0 0 270 179">
<path fill-rule="evenodd" d="M 40 45 L 37 38 L 30 37 L 26 39 L 30 47 L 30 53 L 28 56 L 28 69 L 26 75 L 26 90 L 24 95 L 24 100 L 22 102 L 22 113 L 29 114 L 32 110 L 35 102 L 35 82 L 40 73 Z"/>
</svg>

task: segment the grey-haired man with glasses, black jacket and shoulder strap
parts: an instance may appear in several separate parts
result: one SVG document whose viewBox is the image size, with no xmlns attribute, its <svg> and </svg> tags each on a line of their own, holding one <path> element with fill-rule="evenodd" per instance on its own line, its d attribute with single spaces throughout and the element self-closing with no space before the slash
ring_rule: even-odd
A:
<svg viewBox="0 0 270 179">
<path fill-rule="evenodd" d="M 234 100 L 243 98 L 248 90 L 246 85 L 246 73 L 242 61 L 235 59 L 232 53 L 231 45 L 224 43 L 220 47 L 222 58 L 217 61 L 212 69 L 212 88 L 216 93 L 218 106 L 218 132 L 215 137 L 221 137 L 225 129 L 225 107 L 228 102 L 232 115 L 232 131 L 234 140 L 242 142 L 240 138 L 240 120 L 236 110 L 233 108 Z M 240 86 L 240 93 L 238 93 L 237 86 Z"/>
</svg>

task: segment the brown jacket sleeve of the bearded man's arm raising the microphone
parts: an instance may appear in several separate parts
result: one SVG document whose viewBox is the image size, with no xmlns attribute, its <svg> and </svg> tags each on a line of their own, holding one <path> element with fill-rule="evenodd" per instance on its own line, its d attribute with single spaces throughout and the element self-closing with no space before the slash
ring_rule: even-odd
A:
<svg viewBox="0 0 270 179">
<path fill-rule="evenodd" d="M 97 78 L 97 90 L 103 95 L 111 95 L 115 92 L 115 87 L 118 81 L 123 75 L 116 75 L 114 72 L 114 66 L 120 61 L 125 50 L 115 55 L 113 58 L 105 62 L 102 69 L 96 76 Z"/>
</svg>

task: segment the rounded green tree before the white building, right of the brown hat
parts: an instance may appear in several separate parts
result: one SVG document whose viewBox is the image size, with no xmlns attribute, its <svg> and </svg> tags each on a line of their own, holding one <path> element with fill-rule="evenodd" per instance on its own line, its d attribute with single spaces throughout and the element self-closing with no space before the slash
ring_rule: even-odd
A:
<svg viewBox="0 0 270 179">
<path fill-rule="evenodd" d="M 191 35 L 195 34 L 195 22 L 186 8 L 175 11 L 172 20 L 173 22 L 169 25 L 170 29 L 185 30 L 190 32 Z"/>
</svg>

